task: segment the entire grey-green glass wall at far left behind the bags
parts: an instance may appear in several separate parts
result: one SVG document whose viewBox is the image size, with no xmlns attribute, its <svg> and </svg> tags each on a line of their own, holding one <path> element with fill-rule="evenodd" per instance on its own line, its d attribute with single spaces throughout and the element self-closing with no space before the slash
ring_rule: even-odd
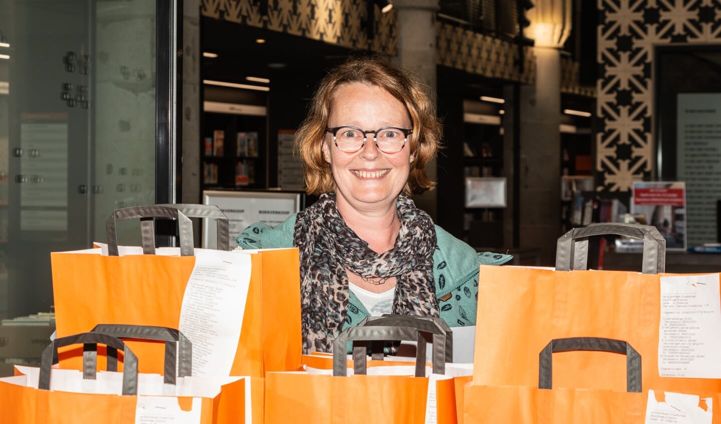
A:
<svg viewBox="0 0 721 424">
<path fill-rule="evenodd" d="M 114 209 L 155 202 L 156 9 L 144 0 L 0 0 L 0 11 L 7 319 L 53 310 L 50 252 L 103 242 Z M 120 229 L 120 242 L 138 244 L 138 226 Z"/>
</svg>

